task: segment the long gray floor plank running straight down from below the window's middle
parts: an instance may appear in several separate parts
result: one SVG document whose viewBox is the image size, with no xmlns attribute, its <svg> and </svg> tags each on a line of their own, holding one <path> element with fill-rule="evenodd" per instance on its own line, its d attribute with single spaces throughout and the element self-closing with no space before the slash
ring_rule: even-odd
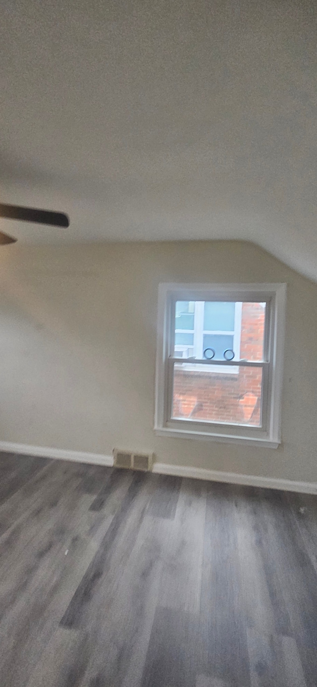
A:
<svg viewBox="0 0 317 687">
<path fill-rule="evenodd" d="M 246 618 L 235 530 L 235 488 L 209 484 L 204 528 L 200 642 L 204 673 L 249 687 Z"/>
</svg>

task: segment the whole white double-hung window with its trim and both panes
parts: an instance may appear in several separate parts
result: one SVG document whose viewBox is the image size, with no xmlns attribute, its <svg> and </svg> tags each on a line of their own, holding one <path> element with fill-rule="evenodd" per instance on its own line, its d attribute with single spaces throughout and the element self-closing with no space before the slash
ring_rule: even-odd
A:
<svg viewBox="0 0 317 687">
<path fill-rule="evenodd" d="M 155 429 L 276 448 L 285 284 L 160 284 Z"/>
</svg>

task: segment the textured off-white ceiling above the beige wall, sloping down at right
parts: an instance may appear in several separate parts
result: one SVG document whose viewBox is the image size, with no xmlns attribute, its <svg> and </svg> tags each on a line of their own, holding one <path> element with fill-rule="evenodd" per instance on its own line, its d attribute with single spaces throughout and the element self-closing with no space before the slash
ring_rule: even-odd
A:
<svg viewBox="0 0 317 687">
<path fill-rule="evenodd" d="M 253 240 L 317 279 L 314 0 L 1 0 L 19 240 Z"/>
</svg>

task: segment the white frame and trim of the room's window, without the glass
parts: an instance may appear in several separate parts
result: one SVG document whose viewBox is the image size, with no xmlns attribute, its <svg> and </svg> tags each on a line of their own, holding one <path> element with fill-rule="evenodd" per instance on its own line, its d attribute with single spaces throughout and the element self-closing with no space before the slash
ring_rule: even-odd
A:
<svg viewBox="0 0 317 687">
<path fill-rule="evenodd" d="M 286 284 L 160 284 L 154 430 L 160 436 L 211 439 L 277 448 L 281 443 L 281 389 L 285 328 Z M 191 418 L 172 418 L 176 301 L 234 301 L 266 303 L 263 361 L 191 360 L 184 368 L 201 370 L 205 365 L 262 368 L 261 425 L 238 425 Z M 209 368 L 210 369 L 210 368 Z"/>
</svg>

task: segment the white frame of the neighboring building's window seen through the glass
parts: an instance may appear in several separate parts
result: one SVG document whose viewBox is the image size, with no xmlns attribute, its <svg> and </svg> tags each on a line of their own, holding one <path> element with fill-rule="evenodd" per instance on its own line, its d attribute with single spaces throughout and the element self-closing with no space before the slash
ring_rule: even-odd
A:
<svg viewBox="0 0 317 687">
<path fill-rule="evenodd" d="M 241 342 L 241 322 L 242 322 L 242 302 L 235 303 L 235 322 L 233 330 L 207 330 L 204 329 L 204 301 L 194 301 L 194 311 L 193 311 L 193 329 L 175 329 L 175 334 L 193 334 L 193 346 L 186 346 L 185 344 L 178 343 L 175 345 L 177 351 L 185 352 L 188 348 L 193 349 L 193 357 L 203 358 L 203 339 L 204 334 L 224 334 L 233 337 L 233 351 L 235 352 L 235 358 L 239 360 L 240 357 L 240 342 Z M 187 356 L 183 356 L 187 358 Z M 185 365 L 184 365 L 185 368 Z M 187 363 L 186 370 L 199 370 L 200 372 L 208 372 L 208 368 L 205 365 L 191 365 Z M 218 365 L 218 373 L 222 374 L 238 374 L 239 368 L 231 367 L 230 370 L 224 365 Z"/>
</svg>

